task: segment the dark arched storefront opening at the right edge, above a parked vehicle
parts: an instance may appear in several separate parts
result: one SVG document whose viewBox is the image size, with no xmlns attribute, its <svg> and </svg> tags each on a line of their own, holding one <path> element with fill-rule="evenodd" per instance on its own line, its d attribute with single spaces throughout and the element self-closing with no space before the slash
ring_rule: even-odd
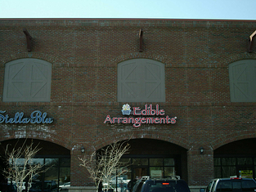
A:
<svg viewBox="0 0 256 192">
<path fill-rule="evenodd" d="M 255 178 L 256 138 L 234 141 L 214 150 L 214 177 Z"/>
</svg>

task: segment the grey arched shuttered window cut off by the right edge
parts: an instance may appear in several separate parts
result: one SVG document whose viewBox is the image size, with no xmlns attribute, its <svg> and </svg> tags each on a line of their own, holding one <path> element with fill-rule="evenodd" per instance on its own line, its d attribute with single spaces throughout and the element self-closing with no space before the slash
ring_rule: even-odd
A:
<svg viewBox="0 0 256 192">
<path fill-rule="evenodd" d="M 256 60 L 229 65 L 231 102 L 256 102 Z"/>
</svg>

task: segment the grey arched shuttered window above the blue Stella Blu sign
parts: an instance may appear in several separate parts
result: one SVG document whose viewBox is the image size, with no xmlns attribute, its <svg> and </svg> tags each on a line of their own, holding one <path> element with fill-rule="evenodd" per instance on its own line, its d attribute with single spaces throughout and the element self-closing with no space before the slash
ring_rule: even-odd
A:
<svg viewBox="0 0 256 192">
<path fill-rule="evenodd" d="M 5 65 L 4 102 L 50 102 L 52 64 L 45 60 L 12 60 Z"/>
</svg>

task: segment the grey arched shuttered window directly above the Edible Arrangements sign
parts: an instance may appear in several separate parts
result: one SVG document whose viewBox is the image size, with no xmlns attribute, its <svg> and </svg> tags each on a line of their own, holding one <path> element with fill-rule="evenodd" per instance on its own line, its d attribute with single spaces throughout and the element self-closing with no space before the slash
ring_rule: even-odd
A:
<svg viewBox="0 0 256 192">
<path fill-rule="evenodd" d="M 148 59 L 118 65 L 119 102 L 165 102 L 164 64 Z"/>
</svg>

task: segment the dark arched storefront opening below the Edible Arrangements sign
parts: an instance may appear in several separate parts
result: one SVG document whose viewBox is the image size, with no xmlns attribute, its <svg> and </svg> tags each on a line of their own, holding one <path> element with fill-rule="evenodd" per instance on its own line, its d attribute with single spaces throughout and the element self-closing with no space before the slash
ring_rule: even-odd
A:
<svg viewBox="0 0 256 192">
<path fill-rule="evenodd" d="M 128 167 L 125 167 L 127 171 L 110 182 L 114 191 L 131 190 L 141 176 L 181 176 L 187 181 L 186 149 L 154 139 L 132 139 L 128 144 L 128 154 L 120 159 L 121 162 L 128 163 Z"/>
</svg>

